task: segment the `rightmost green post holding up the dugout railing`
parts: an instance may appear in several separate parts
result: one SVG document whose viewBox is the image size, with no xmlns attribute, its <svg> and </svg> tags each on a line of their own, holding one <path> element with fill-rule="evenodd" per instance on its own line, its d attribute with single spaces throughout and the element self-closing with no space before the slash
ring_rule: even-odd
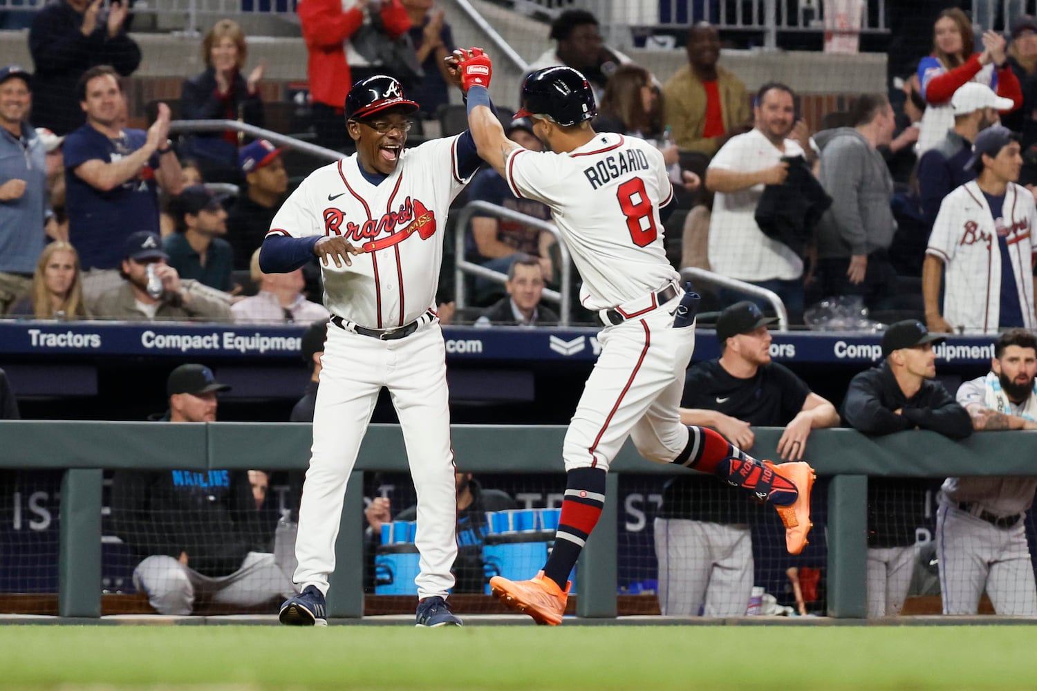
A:
<svg viewBox="0 0 1037 691">
<path fill-rule="evenodd" d="M 835 476 L 829 486 L 829 616 L 868 615 L 868 477 Z"/>
</svg>

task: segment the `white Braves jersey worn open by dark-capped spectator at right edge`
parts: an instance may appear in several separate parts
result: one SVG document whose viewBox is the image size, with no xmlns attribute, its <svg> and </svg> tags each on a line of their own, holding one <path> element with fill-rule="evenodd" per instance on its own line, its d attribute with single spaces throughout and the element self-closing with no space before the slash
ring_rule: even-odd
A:
<svg viewBox="0 0 1037 691">
<path fill-rule="evenodd" d="M 1001 251 L 998 233 L 1007 234 L 1019 307 L 1027 328 L 1034 318 L 1034 282 L 1031 233 L 1037 222 L 1033 195 L 1008 183 L 1003 219 L 994 221 L 979 184 L 966 182 L 940 205 L 926 254 L 945 265 L 944 319 L 964 333 L 998 330 L 1001 313 Z M 1000 222 L 1000 223 L 999 223 Z"/>
</svg>

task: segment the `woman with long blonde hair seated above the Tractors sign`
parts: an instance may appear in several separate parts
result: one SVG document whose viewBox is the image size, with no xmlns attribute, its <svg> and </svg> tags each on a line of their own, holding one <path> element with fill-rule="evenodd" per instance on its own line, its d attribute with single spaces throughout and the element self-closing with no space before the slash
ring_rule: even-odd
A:
<svg viewBox="0 0 1037 691">
<path fill-rule="evenodd" d="M 51 242 L 39 253 L 29 294 L 15 303 L 9 317 L 89 319 L 83 301 L 79 253 L 71 243 Z"/>
</svg>

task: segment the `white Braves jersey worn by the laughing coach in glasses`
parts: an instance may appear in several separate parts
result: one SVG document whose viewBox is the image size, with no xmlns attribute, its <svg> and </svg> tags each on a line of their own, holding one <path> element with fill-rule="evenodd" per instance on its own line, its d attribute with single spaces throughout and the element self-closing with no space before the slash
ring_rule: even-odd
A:
<svg viewBox="0 0 1037 691">
<path fill-rule="evenodd" d="M 457 138 L 404 149 L 380 184 L 354 154 L 318 168 L 284 202 L 271 235 L 341 235 L 363 254 L 352 266 L 321 264 L 325 304 L 366 328 L 395 328 L 436 307 L 450 202 L 468 183 L 457 171 Z"/>
</svg>

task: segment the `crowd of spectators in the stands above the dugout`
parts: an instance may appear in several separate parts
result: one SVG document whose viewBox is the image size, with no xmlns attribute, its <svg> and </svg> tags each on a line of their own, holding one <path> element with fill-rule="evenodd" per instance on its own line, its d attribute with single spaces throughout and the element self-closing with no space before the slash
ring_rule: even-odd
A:
<svg viewBox="0 0 1037 691">
<path fill-rule="evenodd" d="M 353 144 L 342 126 L 342 104 L 357 79 L 395 69 L 409 96 L 421 105 L 418 119 L 433 120 L 449 103 L 443 58 L 454 46 L 444 13 L 428 0 L 382 2 L 376 12 L 373 6 L 358 2 L 343 10 L 321 0 L 299 10 L 309 52 L 312 138 L 344 153 Z M 373 31 L 372 15 L 377 19 Z M 53 3 L 36 15 L 29 32 L 34 70 L 17 65 L 0 70 L 6 105 L 0 145 L 21 146 L 28 156 L 0 159 L 0 228 L 5 229 L 0 234 L 0 311 L 7 316 L 29 312 L 23 298 L 30 290 L 44 294 L 33 287 L 44 246 L 66 241 L 78 253 L 73 283 L 84 296 L 76 316 L 117 318 L 91 308 L 102 294 L 125 289 L 120 276 L 124 243 L 138 231 L 162 237 L 166 265 L 204 299 L 229 310 L 258 292 L 251 258 L 291 186 L 282 149 L 235 131 L 191 133 L 173 141 L 172 112 L 164 104 L 146 129 L 128 126 L 131 114 L 120 79 L 141 59 L 127 33 L 131 19 L 120 3 L 109 8 L 87 0 Z M 1032 117 L 1037 112 L 1037 20 L 1009 18 L 1006 26 L 999 33 L 978 20 L 974 25 L 961 9 L 944 9 L 932 26 L 930 54 L 919 56 L 917 66 L 900 79 L 902 86 L 891 85 L 895 97 L 857 94 L 847 111 L 829 113 L 815 132 L 798 112 L 794 84 L 768 82 L 750 93 L 721 64 L 720 32 L 705 23 L 688 31 L 686 64 L 661 82 L 606 46 L 592 13 L 566 10 L 550 28 L 554 48 L 531 68 L 567 64 L 583 70 L 597 94 L 594 126 L 648 139 L 663 150 L 683 211 L 665 228 L 667 252 L 677 268 L 708 268 L 773 290 L 793 324 L 804 323 L 812 305 L 842 296 L 859 299 L 878 321 L 918 317 L 935 330 L 993 333 L 1035 319 L 1025 266 L 1031 244 L 1024 237 L 1034 223 L 1032 205 L 1015 200 L 1033 197 L 1037 182 Z M 200 44 L 205 69 L 184 81 L 177 117 L 262 126 L 259 87 L 265 65 L 249 64 L 241 26 L 217 21 Z M 390 44 L 397 53 L 410 50 L 414 60 L 380 64 L 371 57 L 371 46 L 384 55 Z M 410 75 L 412 67 L 420 79 Z M 974 183 L 980 189 L 973 196 L 987 195 L 974 234 L 999 238 L 1000 261 L 993 256 L 990 268 L 970 283 L 963 278 L 968 271 L 954 270 L 946 248 L 931 244 L 930 237 L 960 239 L 958 219 L 945 200 L 980 169 L 987 177 L 998 169 L 993 162 L 1000 149 L 972 159 L 977 137 L 999 123 L 1018 143 L 1019 161 L 1005 153 L 1007 169 L 992 188 Z M 507 123 L 507 134 L 526 147 L 538 147 L 524 120 Z M 228 188 L 236 193 L 225 194 Z M 543 204 L 516 198 L 489 169 L 476 176 L 455 208 L 473 200 L 549 220 Z M 1011 203 L 1005 206 L 1004 200 Z M 1003 222 L 999 207 L 1012 219 Z M 444 319 L 474 322 L 483 310 L 497 308 L 509 294 L 504 277 L 518 257 L 537 259 L 544 287 L 563 288 L 555 235 L 542 227 L 480 212 L 467 237 L 465 247 L 453 251 L 501 278 L 467 278 L 474 307 L 455 315 L 445 282 Z M 980 244 L 989 244 L 992 253 L 991 243 Z M 976 248 L 974 262 L 981 251 Z M 962 261 L 959 257 L 958 269 Z M 162 273 L 170 280 L 168 269 Z M 319 303 L 316 264 L 304 267 L 303 277 L 302 296 Z M 941 304 L 987 279 L 1000 288 L 987 291 L 983 309 Z M 578 286 L 565 288 L 574 295 Z M 707 306 L 718 310 L 746 296 L 726 288 L 702 289 Z M 16 303 L 19 311 L 12 312 Z M 152 318 L 150 309 L 136 310 L 135 300 L 129 305 Z M 515 314 L 522 311 L 514 301 L 510 307 Z M 544 309 L 552 308 L 541 305 Z M 52 313 L 73 317 L 65 310 Z M 497 319 L 487 315 L 482 323 L 499 318 L 497 310 Z M 593 315 L 577 307 L 570 321 L 591 322 Z"/>
</svg>

